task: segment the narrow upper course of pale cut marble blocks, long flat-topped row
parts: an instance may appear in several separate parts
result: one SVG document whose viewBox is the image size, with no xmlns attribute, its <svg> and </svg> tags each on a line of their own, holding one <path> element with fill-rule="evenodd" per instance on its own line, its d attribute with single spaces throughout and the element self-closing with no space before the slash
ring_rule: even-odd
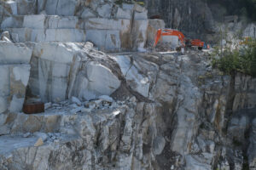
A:
<svg viewBox="0 0 256 170">
<path fill-rule="evenodd" d="M 119 30 L 130 31 L 131 20 L 90 18 L 81 19 L 77 16 L 58 15 L 14 15 L 3 20 L 1 28 L 32 28 L 32 29 L 84 29 L 84 30 Z"/>
</svg>

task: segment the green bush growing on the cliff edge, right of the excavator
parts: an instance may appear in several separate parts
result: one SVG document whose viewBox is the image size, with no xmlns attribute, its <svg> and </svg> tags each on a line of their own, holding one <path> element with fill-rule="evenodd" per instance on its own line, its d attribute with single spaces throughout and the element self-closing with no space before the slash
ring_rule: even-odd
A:
<svg viewBox="0 0 256 170">
<path fill-rule="evenodd" d="M 224 49 L 223 53 L 216 48 L 212 58 L 212 65 L 226 74 L 242 72 L 256 77 L 256 41 L 251 39 L 242 45 L 242 48 L 230 50 Z"/>
</svg>

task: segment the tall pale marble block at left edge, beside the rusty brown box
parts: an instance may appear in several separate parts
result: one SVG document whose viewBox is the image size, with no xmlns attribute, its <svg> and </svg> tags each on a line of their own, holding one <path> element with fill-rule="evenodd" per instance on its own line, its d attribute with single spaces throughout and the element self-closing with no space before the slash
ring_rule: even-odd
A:
<svg viewBox="0 0 256 170">
<path fill-rule="evenodd" d="M 31 57 L 32 50 L 22 43 L 0 42 L 0 114 L 21 111 Z"/>
</svg>

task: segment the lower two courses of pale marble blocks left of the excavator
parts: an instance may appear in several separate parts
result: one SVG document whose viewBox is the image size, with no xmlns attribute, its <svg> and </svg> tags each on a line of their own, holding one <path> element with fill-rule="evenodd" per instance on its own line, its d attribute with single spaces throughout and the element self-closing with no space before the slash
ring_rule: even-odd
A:
<svg viewBox="0 0 256 170">
<path fill-rule="evenodd" d="M 144 47 L 148 20 L 134 20 L 133 23 L 131 26 L 131 20 L 125 19 L 79 19 L 38 14 L 6 18 L 1 27 L 3 31 L 11 32 L 15 42 L 90 41 L 100 50 L 117 52 Z"/>
</svg>

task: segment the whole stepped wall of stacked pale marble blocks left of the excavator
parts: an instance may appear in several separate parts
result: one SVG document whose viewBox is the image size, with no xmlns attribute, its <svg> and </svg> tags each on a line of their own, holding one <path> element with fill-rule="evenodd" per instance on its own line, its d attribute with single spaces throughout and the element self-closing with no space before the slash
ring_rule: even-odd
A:
<svg viewBox="0 0 256 170">
<path fill-rule="evenodd" d="M 113 1 L 7 1 L 1 28 L 15 42 L 93 42 L 100 50 L 145 48 L 148 11 Z"/>
</svg>

